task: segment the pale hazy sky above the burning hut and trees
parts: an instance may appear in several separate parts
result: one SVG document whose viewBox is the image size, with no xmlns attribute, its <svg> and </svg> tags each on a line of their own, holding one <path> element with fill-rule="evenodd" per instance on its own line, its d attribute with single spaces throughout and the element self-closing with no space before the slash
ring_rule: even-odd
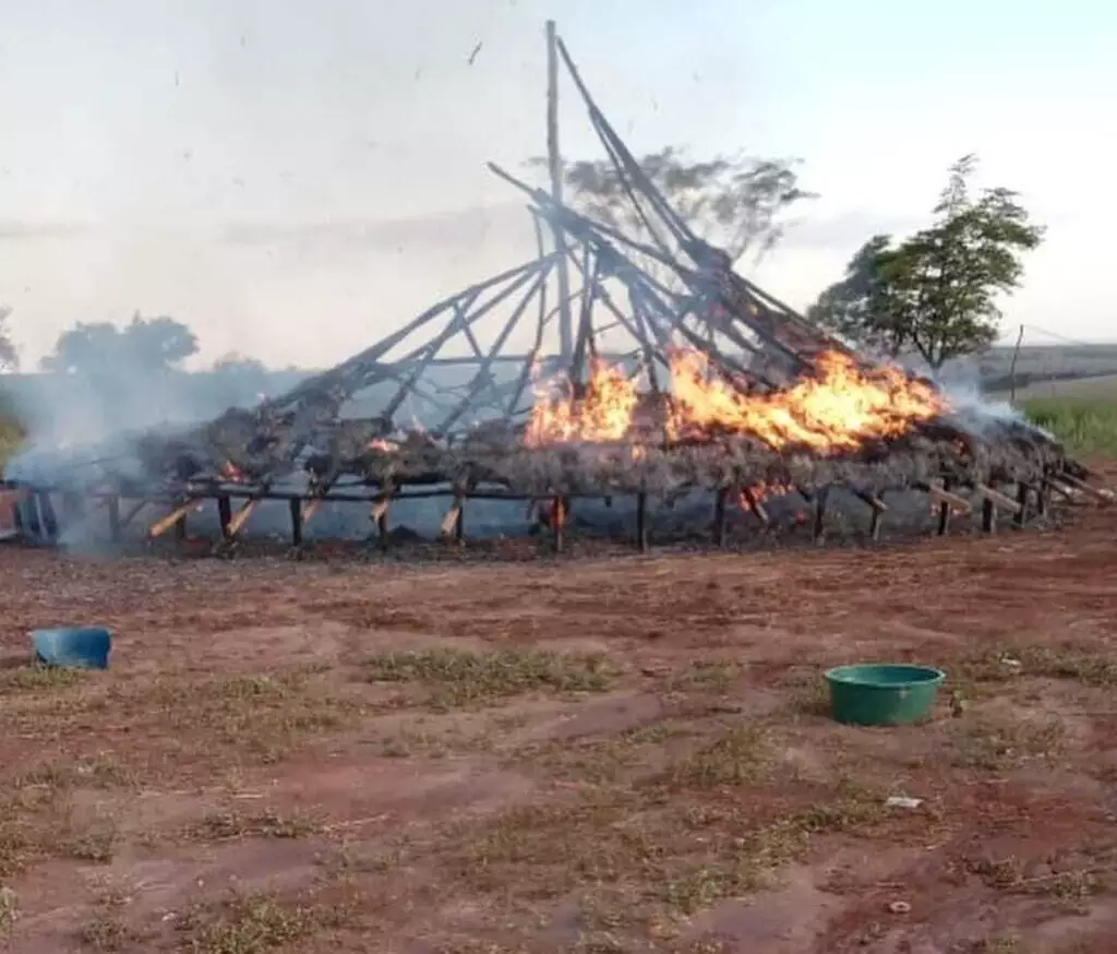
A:
<svg viewBox="0 0 1117 954">
<path fill-rule="evenodd" d="M 1006 331 L 1117 338 L 1101 0 L 0 0 L 0 304 L 25 366 L 136 309 L 206 360 L 321 366 L 529 258 L 485 162 L 543 151 L 548 17 L 634 152 L 803 160 L 822 198 L 753 273 L 773 294 L 803 306 L 872 232 L 923 225 L 976 152 L 1049 227 Z M 596 156 L 563 95 L 564 153 Z"/>
</svg>

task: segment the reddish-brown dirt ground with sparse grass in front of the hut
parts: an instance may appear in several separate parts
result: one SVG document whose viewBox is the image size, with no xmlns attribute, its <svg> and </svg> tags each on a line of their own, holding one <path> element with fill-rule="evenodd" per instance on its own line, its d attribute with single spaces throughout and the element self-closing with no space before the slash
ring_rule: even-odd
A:
<svg viewBox="0 0 1117 954">
<path fill-rule="evenodd" d="M 515 565 L 0 548 L 0 593 L 22 954 L 1117 950 L 1117 509 Z M 111 670 L 28 666 L 88 622 Z M 944 667 L 933 718 L 831 722 L 858 660 Z"/>
</svg>

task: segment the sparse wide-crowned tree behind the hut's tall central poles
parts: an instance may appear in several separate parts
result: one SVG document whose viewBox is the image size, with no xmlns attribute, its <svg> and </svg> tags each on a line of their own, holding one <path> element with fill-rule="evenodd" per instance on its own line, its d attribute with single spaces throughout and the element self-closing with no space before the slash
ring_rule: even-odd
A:
<svg viewBox="0 0 1117 954">
<path fill-rule="evenodd" d="M 667 146 L 638 160 L 676 212 L 710 245 L 736 261 L 750 249 L 771 249 L 783 235 L 783 214 L 812 193 L 799 188 L 795 161 L 744 155 L 690 160 Z M 545 159 L 529 164 L 546 168 Z M 650 242 L 648 223 L 633 208 L 626 181 L 609 160 L 567 163 L 563 181 L 572 204 L 626 235 Z M 647 263 L 641 261 L 647 267 Z"/>
</svg>

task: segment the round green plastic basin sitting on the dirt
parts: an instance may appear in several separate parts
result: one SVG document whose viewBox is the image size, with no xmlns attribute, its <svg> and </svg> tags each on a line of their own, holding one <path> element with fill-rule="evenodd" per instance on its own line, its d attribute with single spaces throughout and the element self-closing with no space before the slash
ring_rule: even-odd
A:
<svg viewBox="0 0 1117 954">
<path fill-rule="evenodd" d="M 839 666 L 825 674 L 837 722 L 910 725 L 924 718 L 946 674 L 930 666 Z"/>
</svg>

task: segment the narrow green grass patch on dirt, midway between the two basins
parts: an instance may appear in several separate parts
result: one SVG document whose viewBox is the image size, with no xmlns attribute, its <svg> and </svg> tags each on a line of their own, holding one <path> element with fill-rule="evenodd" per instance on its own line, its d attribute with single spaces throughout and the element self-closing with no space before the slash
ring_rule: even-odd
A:
<svg viewBox="0 0 1117 954">
<path fill-rule="evenodd" d="M 420 685 L 427 705 L 448 709 L 491 706 L 527 693 L 602 693 L 614 672 L 600 655 L 429 649 L 374 656 L 365 662 L 365 675 L 374 683 Z"/>
</svg>

